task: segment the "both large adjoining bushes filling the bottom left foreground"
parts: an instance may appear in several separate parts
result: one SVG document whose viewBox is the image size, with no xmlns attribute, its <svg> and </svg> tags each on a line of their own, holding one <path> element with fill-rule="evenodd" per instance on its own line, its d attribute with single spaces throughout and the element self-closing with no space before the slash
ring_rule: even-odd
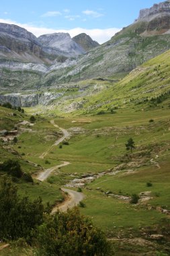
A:
<svg viewBox="0 0 170 256">
<path fill-rule="evenodd" d="M 40 255 L 107 256 L 113 255 L 110 243 L 78 208 L 50 214 L 40 198 L 30 201 L 19 197 L 9 179 L 0 184 L 0 239 L 24 238 L 36 245 Z"/>
</svg>

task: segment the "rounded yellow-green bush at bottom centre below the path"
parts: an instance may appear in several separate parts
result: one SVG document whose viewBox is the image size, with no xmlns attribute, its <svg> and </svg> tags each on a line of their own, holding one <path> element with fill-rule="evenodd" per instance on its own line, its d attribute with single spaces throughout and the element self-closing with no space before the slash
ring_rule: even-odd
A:
<svg viewBox="0 0 170 256">
<path fill-rule="evenodd" d="M 103 232 L 95 228 L 89 218 L 81 216 L 78 208 L 46 215 L 39 228 L 38 243 L 41 255 L 113 255 Z"/>
</svg>

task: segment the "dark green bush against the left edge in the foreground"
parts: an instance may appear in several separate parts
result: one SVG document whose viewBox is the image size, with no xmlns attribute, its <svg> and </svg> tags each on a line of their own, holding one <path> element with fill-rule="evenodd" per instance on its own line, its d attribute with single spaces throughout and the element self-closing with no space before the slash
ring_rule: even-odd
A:
<svg viewBox="0 0 170 256">
<path fill-rule="evenodd" d="M 26 238 L 30 243 L 32 231 L 43 221 L 44 206 L 40 198 L 30 201 L 20 198 L 17 188 L 7 178 L 0 183 L 0 240 Z"/>
</svg>

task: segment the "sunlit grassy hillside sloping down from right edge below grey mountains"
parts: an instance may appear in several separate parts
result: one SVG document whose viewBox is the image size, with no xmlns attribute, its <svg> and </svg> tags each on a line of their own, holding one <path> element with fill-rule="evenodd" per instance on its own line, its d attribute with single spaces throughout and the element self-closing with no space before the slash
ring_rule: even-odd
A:
<svg viewBox="0 0 170 256">
<path fill-rule="evenodd" d="M 46 106 L 40 102 L 36 111 L 47 114 L 50 110 L 54 115 L 94 115 L 114 113 L 118 108 L 160 108 L 162 102 L 169 102 L 169 57 L 170 51 L 167 51 L 136 67 L 123 79 L 88 79 L 68 84 L 67 87 L 62 84 L 48 89 L 48 97 L 51 98 L 47 101 L 44 97 Z M 0 99 L 8 101 L 9 96 L 1 96 Z M 39 94 L 40 100 L 42 96 L 43 93 Z M 24 94 L 20 94 L 20 97 L 23 100 L 26 98 Z"/>
</svg>

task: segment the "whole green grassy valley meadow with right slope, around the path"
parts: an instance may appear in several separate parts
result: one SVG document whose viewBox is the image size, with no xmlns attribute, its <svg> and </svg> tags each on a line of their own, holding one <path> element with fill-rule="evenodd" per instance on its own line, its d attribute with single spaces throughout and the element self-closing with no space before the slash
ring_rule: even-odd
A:
<svg viewBox="0 0 170 256">
<path fill-rule="evenodd" d="M 105 172 L 83 188 L 82 214 L 93 218 L 110 238 L 149 239 L 151 234 L 161 233 L 164 240 L 153 241 L 154 249 L 141 247 L 141 253 L 150 250 L 155 254 L 146 255 L 169 255 L 169 215 L 161 212 L 170 211 L 169 54 L 148 61 L 117 84 L 108 82 L 107 90 L 85 96 L 83 108 L 73 113 L 62 113 L 61 108 L 68 103 L 63 100 L 59 108 L 49 111 L 47 107 L 48 115 L 35 115 L 33 125 L 23 125 L 19 123 L 29 122 L 30 113 L 38 112 L 40 106 L 26 108 L 26 113 L 0 107 L 0 129 L 10 131 L 18 127 L 16 143 L 0 141 L 0 162 L 17 159 L 24 172 L 30 172 L 34 178 L 44 169 L 70 162 L 43 183 L 36 179 L 33 184 L 15 181 L 19 194 L 32 199 L 41 196 L 44 203 L 54 205 L 63 199 L 60 187 L 84 174 Z M 62 133 L 51 120 L 69 131 L 67 145 L 54 146 Z M 135 143 L 132 152 L 125 146 L 130 137 Z M 44 152 L 46 156 L 40 158 Z M 4 173 L 0 174 L 1 179 Z M 149 192 L 151 198 L 138 204 L 120 198 L 142 192 Z M 116 242 L 116 248 L 119 243 Z M 120 247 L 116 255 L 136 255 L 133 245 L 124 243 Z M 128 249 L 131 254 L 127 254 Z M 161 251 L 164 254 L 159 254 Z"/>
</svg>

